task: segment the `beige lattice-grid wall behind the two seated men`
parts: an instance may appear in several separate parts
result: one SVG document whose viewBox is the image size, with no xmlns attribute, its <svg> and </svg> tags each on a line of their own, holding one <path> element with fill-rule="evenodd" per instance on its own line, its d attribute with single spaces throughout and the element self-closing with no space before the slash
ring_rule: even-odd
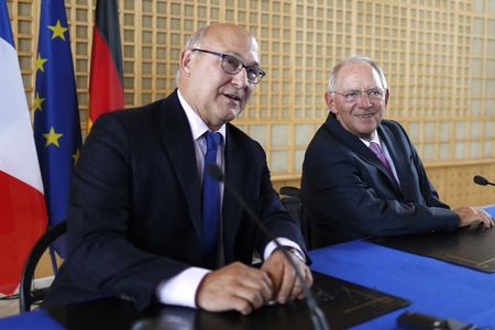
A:
<svg viewBox="0 0 495 330">
<path fill-rule="evenodd" d="M 32 109 L 41 1 L 8 0 Z M 94 0 L 66 0 L 86 130 Z M 120 0 L 125 106 L 175 88 L 185 40 L 209 22 L 258 37 L 267 76 L 237 124 L 266 150 L 278 187 L 298 186 L 306 146 L 327 117 L 328 72 L 351 54 L 384 68 L 386 117 L 400 121 L 440 195 L 452 206 L 495 202 L 495 1 L 491 0 Z"/>
</svg>

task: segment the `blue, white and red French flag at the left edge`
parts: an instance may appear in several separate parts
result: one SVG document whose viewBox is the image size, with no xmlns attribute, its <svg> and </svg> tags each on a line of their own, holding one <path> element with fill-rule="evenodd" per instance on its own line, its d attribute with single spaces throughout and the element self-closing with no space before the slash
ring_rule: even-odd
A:
<svg viewBox="0 0 495 330">
<path fill-rule="evenodd" d="M 0 0 L 0 293 L 14 293 L 46 228 L 43 184 L 6 0 Z"/>
</svg>

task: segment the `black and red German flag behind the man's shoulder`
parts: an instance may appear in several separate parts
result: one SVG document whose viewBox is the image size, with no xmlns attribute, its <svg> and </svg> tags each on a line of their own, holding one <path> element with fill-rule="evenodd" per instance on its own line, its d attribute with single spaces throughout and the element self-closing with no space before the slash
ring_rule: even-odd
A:
<svg viewBox="0 0 495 330">
<path fill-rule="evenodd" d="M 122 46 L 116 0 L 99 0 L 92 30 L 88 132 L 97 118 L 123 108 Z"/>
</svg>

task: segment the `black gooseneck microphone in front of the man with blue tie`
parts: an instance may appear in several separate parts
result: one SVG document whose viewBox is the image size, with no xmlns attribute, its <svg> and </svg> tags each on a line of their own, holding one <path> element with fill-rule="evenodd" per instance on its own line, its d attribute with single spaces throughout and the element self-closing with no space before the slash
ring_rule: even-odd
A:
<svg viewBox="0 0 495 330">
<path fill-rule="evenodd" d="M 293 258 L 288 255 L 288 252 L 284 249 L 284 246 L 278 242 L 278 240 L 270 232 L 270 230 L 261 222 L 257 218 L 256 213 L 250 208 L 250 206 L 244 201 L 244 198 L 239 194 L 239 191 L 233 188 L 230 183 L 226 179 L 222 169 L 217 164 L 209 164 L 207 167 L 207 172 L 211 177 L 217 182 L 222 182 L 223 187 L 235 198 L 235 200 L 241 205 L 242 209 L 248 212 L 248 216 L 256 223 L 256 226 L 261 229 L 263 234 L 267 237 L 271 241 L 275 242 L 275 245 L 282 251 L 284 256 L 290 263 L 290 266 L 294 268 L 296 273 L 297 279 L 302 285 L 302 292 L 306 296 L 306 304 L 308 305 L 308 309 L 311 316 L 311 322 L 315 330 L 330 330 L 330 327 L 324 319 L 324 315 L 318 306 L 309 286 L 306 284 L 302 274 L 300 274 Z"/>
</svg>

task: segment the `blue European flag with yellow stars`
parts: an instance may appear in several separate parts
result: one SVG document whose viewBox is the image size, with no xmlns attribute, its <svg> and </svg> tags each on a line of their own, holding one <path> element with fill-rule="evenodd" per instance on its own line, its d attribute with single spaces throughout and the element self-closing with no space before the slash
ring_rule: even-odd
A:
<svg viewBox="0 0 495 330">
<path fill-rule="evenodd" d="M 42 0 L 34 92 L 34 140 L 48 226 L 67 219 L 70 177 L 81 146 L 79 110 L 64 0 Z M 55 243 L 65 256 L 65 240 Z"/>
</svg>

